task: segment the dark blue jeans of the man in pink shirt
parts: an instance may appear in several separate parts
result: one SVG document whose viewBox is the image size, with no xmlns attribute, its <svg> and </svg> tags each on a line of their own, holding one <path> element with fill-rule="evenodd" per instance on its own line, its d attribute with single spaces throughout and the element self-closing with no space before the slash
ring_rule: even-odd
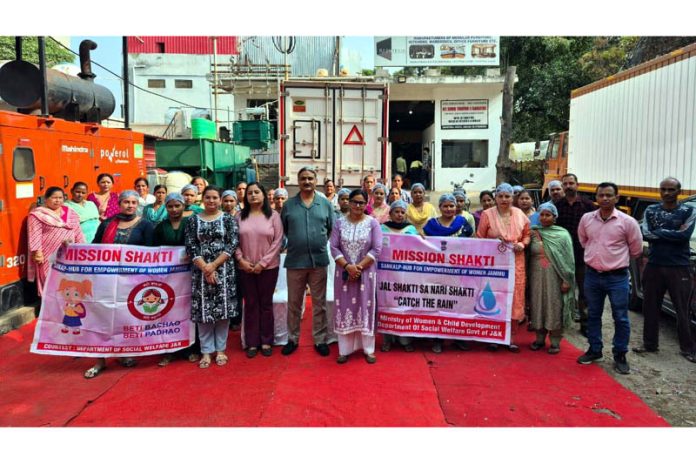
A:
<svg viewBox="0 0 696 464">
<path fill-rule="evenodd" d="M 609 296 L 611 315 L 614 318 L 614 340 L 612 352 L 628 352 L 631 325 L 628 320 L 628 270 L 623 274 L 604 275 L 587 268 L 585 274 L 585 300 L 587 301 L 587 338 L 590 350 L 601 352 L 602 313 L 604 300 Z"/>
</svg>

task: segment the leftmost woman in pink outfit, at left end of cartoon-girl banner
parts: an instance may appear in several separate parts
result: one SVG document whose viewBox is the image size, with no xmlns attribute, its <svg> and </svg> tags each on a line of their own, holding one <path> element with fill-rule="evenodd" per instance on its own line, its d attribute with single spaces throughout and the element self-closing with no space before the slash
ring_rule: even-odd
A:
<svg viewBox="0 0 696 464">
<path fill-rule="evenodd" d="M 36 282 L 39 296 L 51 265 L 49 256 L 66 243 L 84 243 L 80 217 L 63 204 L 65 193 L 59 187 L 49 187 L 44 195 L 44 206 L 29 213 L 27 231 L 29 239 L 29 265 L 27 279 Z"/>
</svg>

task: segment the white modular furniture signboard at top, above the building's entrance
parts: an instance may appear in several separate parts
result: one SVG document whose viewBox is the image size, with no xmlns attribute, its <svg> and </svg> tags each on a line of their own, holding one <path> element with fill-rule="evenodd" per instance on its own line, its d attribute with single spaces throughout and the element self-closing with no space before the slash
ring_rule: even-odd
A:
<svg viewBox="0 0 696 464">
<path fill-rule="evenodd" d="M 498 36 L 375 37 L 375 66 L 499 66 Z"/>
</svg>

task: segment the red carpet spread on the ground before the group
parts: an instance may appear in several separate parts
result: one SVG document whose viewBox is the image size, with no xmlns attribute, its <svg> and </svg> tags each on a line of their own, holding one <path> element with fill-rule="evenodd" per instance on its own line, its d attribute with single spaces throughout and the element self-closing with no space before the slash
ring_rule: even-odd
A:
<svg viewBox="0 0 696 464">
<path fill-rule="evenodd" d="M 599 366 L 580 366 L 567 343 L 560 355 L 482 346 L 435 355 L 395 347 L 375 365 L 354 354 L 336 364 L 313 349 L 309 315 L 298 351 L 247 359 L 231 333 L 230 362 L 166 368 L 158 357 L 125 369 L 110 360 L 84 380 L 89 359 L 29 353 L 34 324 L 0 337 L 0 426 L 667 426 Z M 378 339 L 379 342 L 379 339 Z"/>
</svg>

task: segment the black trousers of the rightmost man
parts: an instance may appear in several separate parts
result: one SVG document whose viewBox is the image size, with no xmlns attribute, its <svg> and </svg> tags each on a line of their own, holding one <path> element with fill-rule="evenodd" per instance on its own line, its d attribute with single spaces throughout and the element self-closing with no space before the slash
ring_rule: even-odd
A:
<svg viewBox="0 0 696 464">
<path fill-rule="evenodd" d="M 643 344 L 648 349 L 659 346 L 660 308 L 665 292 L 677 313 L 679 349 L 696 351 L 696 331 L 691 327 L 693 283 L 688 266 L 655 266 L 648 264 L 643 272 Z"/>
</svg>

